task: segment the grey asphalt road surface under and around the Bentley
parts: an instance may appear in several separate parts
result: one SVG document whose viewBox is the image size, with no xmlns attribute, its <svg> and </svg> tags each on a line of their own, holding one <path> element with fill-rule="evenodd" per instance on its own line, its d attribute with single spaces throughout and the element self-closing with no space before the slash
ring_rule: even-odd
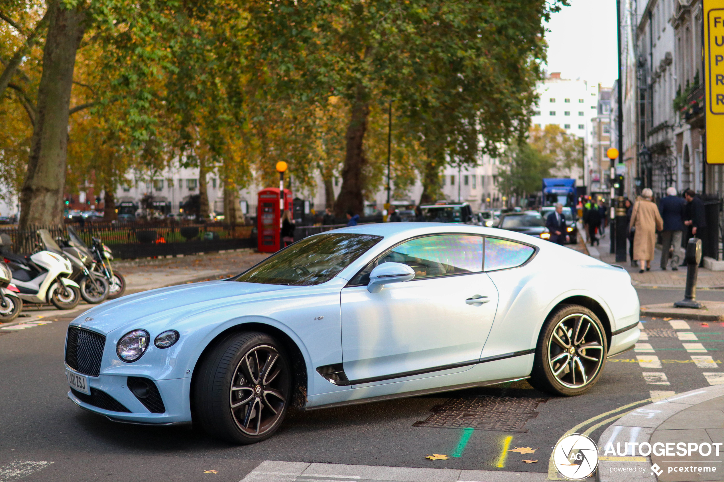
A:
<svg viewBox="0 0 724 482">
<path fill-rule="evenodd" d="M 724 301 L 724 293 L 717 291 L 701 291 L 700 295 L 704 300 L 717 296 Z M 676 298 L 662 290 L 640 290 L 639 296 L 642 304 Z M 652 351 L 643 355 L 657 358 L 662 368 L 641 366 L 636 357 L 641 353 L 625 353 L 609 361 L 599 383 L 580 397 L 552 397 L 536 392 L 526 382 L 515 382 L 503 387 L 294 412 L 271 439 L 243 447 L 218 442 L 190 426 L 113 423 L 77 408 L 65 395 L 68 389 L 62 359 L 70 319 L 25 330 L 0 330 L 0 482 L 4 482 L 2 468 L 20 460 L 53 462 L 23 477 L 23 482 L 235 482 L 263 460 L 546 472 L 553 444 L 578 423 L 647 399 L 652 390 L 684 392 L 707 386 L 703 373 L 720 370 L 720 365 L 699 368 L 668 322 L 642 321 L 654 334 L 648 341 Z M 701 325 L 691 322 L 691 332 L 707 350 L 705 355 L 712 356 L 716 363 L 724 343 L 723 324 Z M 647 359 L 644 363 L 656 365 Z M 669 384 L 650 384 L 651 377 L 647 382 L 644 372 L 664 373 Z M 466 395 L 540 397 L 547 401 L 538 405 L 538 416 L 525 423 L 526 431 L 475 430 L 466 444 L 461 442 L 465 433 L 461 429 L 413 426 L 428 418 L 434 405 Z M 605 427 L 592 431 L 592 438 L 597 439 Z M 510 448 L 532 447 L 536 452 L 503 452 L 506 443 Z M 451 457 L 434 461 L 424 458 L 432 453 Z M 501 457 L 502 453 L 505 457 Z M 523 459 L 539 462 L 525 464 Z"/>
</svg>

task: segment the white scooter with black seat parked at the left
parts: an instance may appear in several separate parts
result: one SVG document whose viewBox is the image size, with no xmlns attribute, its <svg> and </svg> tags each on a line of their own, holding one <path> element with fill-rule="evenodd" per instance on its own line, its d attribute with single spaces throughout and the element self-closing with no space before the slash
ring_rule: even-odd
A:
<svg viewBox="0 0 724 482">
<path fill-rule="evenodd" d="M 25 303 L 52 303 L 57 309 L 73 309 L 80 303 L 80 286 L 68 279 L 73 271 L 70 261 L 64 258 L 47 229 L 38 230 L 38 236 L 40 249 L 30 256 L 3 252 L 12 272 L 12 283 Z M 0 238 L 4 245 L 10 245 L 7 234 Z"/>
</svg>

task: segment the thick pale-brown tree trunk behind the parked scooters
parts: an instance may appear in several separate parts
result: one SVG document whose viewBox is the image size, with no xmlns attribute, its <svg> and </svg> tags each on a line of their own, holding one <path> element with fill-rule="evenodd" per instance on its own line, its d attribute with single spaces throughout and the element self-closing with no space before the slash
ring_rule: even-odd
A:
<svg viewBox="0 0 724 482">
<path fill-rule="evenodd" d="M 49 1 L 50 22 L 38 107 L 28 157 L 28 173 L 20 193 L 20 229 L 33 224 L 59 225 L 67 162 L 68 116 L 75 53 L 85 30 L 86 14 Z"/>
</svg>

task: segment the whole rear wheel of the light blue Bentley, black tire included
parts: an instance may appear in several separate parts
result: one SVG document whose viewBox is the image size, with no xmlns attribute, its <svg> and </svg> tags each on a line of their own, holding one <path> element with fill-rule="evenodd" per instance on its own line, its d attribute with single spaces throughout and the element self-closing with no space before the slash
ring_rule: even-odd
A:
<svg viewBox="0 0 724 482">
<path fill-rule="evenodd" d="M 553 395 L 581 395 L 601 376 L 607 351 L 606 332 L 593 311 L 560 305 L 543 324 L 529 382 Z"/>
</svg>

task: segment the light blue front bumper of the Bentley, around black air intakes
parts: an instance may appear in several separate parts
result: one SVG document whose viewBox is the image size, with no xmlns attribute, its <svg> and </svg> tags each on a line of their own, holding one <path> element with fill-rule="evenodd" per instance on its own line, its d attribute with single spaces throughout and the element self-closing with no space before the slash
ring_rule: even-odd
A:
<svg viewBox="0 0 724 482">
<path fill-rule="evenodd" d="M 191 412 L 189 408 L 189 393 L 191 387 L 191 378 L 153 380 L 159 389 L 161 398 L 164 400 L 166 412 L 151 413 L 140 400 L 133 395 L 128 389 L 128 377 L 119 375 L 88 376 L 88 385 L 96 390 L 101 390 L 113 397 L 119 403 L 125 406 L 128 412 L 116 412 L 112 410 L 104 410 L 90 403 L 85 403 L 76 397 L 69 390 L 68 398 L 80 408 L 88 410 L 98 415 L 103 415 L 113 421 L 121 421 L 127 423 L 143 423 L 152 425 L 167 425 L 169 423 L 182 423 L 191 421 Z"/>
</svg>

